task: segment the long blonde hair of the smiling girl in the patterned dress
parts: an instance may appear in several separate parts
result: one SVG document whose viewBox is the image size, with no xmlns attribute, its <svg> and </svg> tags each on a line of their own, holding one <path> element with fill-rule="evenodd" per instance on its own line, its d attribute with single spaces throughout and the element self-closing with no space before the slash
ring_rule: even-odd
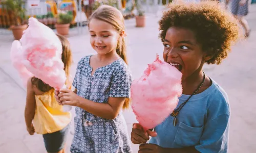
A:
<svg viewBox="0 0 256 153">
<path fill-rule="evenodd" d="M 107 22 L 113 25 L 113 27 L 117 30 L 117 32 L 120 32 L 120 33 L 125 30 L 123 15 L 118 9 L 114 7 L 111 7 L 108 5 L 100 6 L 89 17 L 89 20 L 88 20 L 89 25 L 92 19 L 97 19 L 97 20 Z M 123 59 L 123 61 L 126 64 L 128 64 L 124 37 L 119 38 L 117 42 L 116 52 Z M 130 105 L 130 99 L 126 98 L 123 104 L 123 109 L 129 108 L 129 105 Z"/>
</svg>

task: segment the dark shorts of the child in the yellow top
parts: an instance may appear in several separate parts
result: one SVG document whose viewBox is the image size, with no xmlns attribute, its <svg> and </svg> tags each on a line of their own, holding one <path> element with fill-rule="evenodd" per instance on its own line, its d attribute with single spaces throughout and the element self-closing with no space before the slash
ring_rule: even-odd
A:
<svg viewBox="0 0 256 153">
<path fill-rule="evenodd" d="M 64 129 L 42 135 L 44 137 L 45 147 L 49 153 L 62 153 L 65 152 L 65 143 L 69 133 L 70 125 L 64 127 Z"/>
</svg>

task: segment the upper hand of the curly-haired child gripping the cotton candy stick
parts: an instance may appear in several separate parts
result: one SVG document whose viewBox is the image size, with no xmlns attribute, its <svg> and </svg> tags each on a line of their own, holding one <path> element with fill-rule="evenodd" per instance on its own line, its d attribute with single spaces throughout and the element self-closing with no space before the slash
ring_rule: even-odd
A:
<svg viewBox="0 0 256 153">
<path fill-rule="evenodd" d="M 146 143 L 147 140 L 150 140 L 149 136 L 156 137 L 157 133 L 152 132 L 150 130 L 147 130 L 146 132 L 144 132 L 143 127 L 140 124 L 138 123 L 133 124 L 131 140 L 134 144 Z"/>
</svg>

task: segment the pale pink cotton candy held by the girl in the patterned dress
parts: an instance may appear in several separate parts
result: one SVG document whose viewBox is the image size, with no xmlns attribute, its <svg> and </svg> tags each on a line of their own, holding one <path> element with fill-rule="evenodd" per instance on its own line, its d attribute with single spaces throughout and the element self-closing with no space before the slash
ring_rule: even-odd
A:
<svg viewBox="0 0 256 153">
<path fill-rule="evenodd" d="M 20 39 L 25 67 L 56 90 L 66 88 L 66 73 L 61 60 L 62 44 L 56 34 L 37 19 L 29 18 L 29 27 Z M 70 111 L 71 106 L 63 106 Z"/>
</svg>

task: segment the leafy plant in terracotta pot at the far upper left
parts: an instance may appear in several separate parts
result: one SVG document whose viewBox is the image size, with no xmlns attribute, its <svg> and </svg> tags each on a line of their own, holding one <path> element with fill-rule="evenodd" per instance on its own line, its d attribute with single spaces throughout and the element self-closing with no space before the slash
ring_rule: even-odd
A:
<svg viewBox="0 0 256 153">
<path fill-rule="evenodd" d="M 10 21 L 13 36 L 16 40 L 22 38 L 23 31 L 28 28 L 25 24 L 26 9 L 25 1 L 23 0 L 4 0 L 2 1 L 3 9 L 6 9 L 10 14 Z"/>
</svg>

